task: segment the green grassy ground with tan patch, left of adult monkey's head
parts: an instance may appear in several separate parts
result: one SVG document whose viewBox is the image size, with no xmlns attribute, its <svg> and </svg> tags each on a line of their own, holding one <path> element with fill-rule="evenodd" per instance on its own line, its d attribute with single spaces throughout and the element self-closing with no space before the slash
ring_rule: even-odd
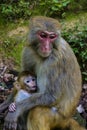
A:
<svg viewBox="0 0 87 130">
<path fill-rule="evenodd" d="M 28 21 L 27 21 L 28 25 Z M 0 24 L 0 52 L 7 58 L 12 57 L 20 66 L 21 52 L 26 42 L 28 27 L 24 21 Z"/>
</svg>

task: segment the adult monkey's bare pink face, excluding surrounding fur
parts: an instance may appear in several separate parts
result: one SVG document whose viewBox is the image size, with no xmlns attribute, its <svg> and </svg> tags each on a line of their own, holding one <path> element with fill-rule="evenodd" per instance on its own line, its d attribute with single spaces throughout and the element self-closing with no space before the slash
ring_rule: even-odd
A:
<svg viewBox="0 0 87 130">
<path fill-rule="evenodd" d="M 49 54 L 51 53 L 52 44 L 58 37 L 57 34 L 54 32 L 39 31 L 37 33 L 37 36 L 40 42 L 39 51 L 42 54 L 46 54 L 47 56 L 49 56 Z"/>
</svg>

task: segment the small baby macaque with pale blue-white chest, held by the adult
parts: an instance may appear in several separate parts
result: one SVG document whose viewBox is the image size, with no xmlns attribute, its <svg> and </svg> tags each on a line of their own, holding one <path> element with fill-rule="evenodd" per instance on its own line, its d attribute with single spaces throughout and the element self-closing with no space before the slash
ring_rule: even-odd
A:
<svg viewBox="0 0 87 130">
<path fill-rule="evenodd" d="M 9 111 L 16 110 L 16 102 L 20 102 L 30 97 L 37 91 L 36 78 L 29 72 L 23 72 L 18 80 L 14 83 L 14 91 L 16 91 L 14 102 L 9 105 Z"/>
</svg>

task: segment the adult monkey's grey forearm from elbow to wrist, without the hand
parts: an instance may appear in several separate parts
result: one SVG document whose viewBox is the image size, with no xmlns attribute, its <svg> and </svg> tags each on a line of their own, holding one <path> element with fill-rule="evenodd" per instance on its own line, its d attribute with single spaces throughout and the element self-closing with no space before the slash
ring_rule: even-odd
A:
<svg viewBox="0 0 87 130">
<path fill-rule="evenodd" d="M 17 103 L 16 114 L 20 116 L 23 112 L 28 111 L 36 106 L 47 106 L 51 107 L 56 102 L 55 97 L 49 93 L 35 93 L 33 96 L 29 97 Z"/>
</svg>

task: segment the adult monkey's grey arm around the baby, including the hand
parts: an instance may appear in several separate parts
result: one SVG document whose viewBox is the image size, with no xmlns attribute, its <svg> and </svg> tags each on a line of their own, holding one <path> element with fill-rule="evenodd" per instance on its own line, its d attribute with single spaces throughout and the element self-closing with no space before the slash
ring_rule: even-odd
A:
<svg viewBox="0 0 87 130">
<path fill-rule="evenodd" d="M 21 101 L 16 104 L 15 112 L 8 112 L 5 123 L 4 130 L 6 128 L 11 127 L 10 129 L 16 130 L 18 117 L 21 116 L 25 111 L 28 111 L 31 108 L 36 106 L 47 106 L 51 107 L 51 105 L 55 102 L 55 98 L 49 93 L 35 93 L 28 99 Z M 8 125 L 9 124 L 9 125 Z"/>
</svg>

